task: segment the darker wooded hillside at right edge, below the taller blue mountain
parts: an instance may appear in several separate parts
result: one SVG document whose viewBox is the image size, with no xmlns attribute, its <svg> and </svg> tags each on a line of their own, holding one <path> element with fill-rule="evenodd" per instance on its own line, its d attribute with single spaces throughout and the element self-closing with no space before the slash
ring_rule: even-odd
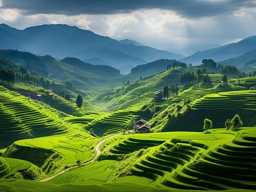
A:
<svg viewBox="0 0 256 192">
<path fill-rule="evenodd" d="M 250 73 L 256 69 L 256 49 L 244 53 L 243 55 L 240 55 L 238 57 L 220 61 L 218 63 L 222 64 L 223 66 L 234 65 L 238 67 L 241 71 Z"/>
</svg>

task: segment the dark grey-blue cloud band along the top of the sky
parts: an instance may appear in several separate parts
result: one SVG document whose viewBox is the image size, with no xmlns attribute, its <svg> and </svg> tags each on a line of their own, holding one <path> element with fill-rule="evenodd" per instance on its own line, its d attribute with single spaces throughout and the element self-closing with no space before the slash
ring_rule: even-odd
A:
<svg viewBox="0 0 256 192">
<path fill-rule="evenodd" d="M 115 14 L 159 8 L 186 18 L 201 18 L 256 7 L 256 0 L 2 0 L 2 4 L 3 9 L 20 9 L 25 15 Z"/>
</svg>

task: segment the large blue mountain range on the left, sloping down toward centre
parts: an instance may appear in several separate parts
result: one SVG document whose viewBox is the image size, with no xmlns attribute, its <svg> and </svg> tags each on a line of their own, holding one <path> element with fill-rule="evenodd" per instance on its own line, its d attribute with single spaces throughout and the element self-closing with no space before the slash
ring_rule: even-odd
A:
<svg viewBox="0 0 256 192">
<path fill-rule="evenodd" d="M 28 27 L 24 30 L 0 24 L 0 49 L 18 49 L 37 55 L 52 55 L 56 59 L 78 57 L 92 64 L 110 64 L 126 68 L 154 60 L 181 59 L 184 55 L 144 46 L 132 40 L 117 41 L 92 31 L 66 24 Z"/>
</svg>

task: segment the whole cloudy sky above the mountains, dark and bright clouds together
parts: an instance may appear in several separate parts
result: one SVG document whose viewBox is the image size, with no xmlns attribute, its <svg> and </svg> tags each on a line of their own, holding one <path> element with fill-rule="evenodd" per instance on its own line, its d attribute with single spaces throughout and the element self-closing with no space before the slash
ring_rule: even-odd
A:
<svg viewBox="0 0 256 192">
<path fill-rule="evenodd" d="M 68 24 L 143 44 L 226 44 L 256 35 L 256 0 L 0 0 L 17 29 Z"/>
</svg>

